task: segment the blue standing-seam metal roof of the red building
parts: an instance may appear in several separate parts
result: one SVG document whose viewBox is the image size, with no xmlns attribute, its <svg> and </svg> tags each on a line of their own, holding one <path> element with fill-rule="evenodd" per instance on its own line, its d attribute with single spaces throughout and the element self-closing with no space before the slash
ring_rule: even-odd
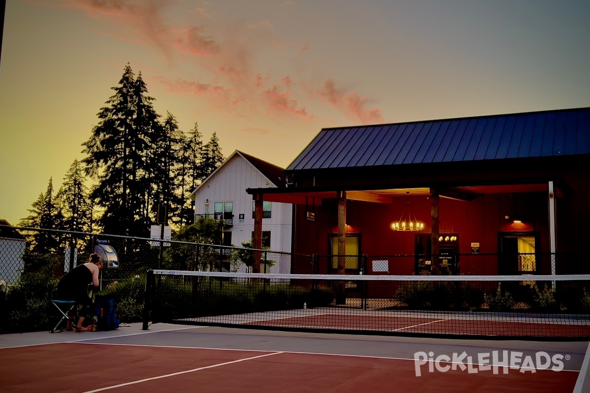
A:
<svg viewBox="0 0 590 393">
<path fill-rule="evenodd" d="M 287 171 L 590 154 L 590 108 L 324 128 Z"/>
</svg>

